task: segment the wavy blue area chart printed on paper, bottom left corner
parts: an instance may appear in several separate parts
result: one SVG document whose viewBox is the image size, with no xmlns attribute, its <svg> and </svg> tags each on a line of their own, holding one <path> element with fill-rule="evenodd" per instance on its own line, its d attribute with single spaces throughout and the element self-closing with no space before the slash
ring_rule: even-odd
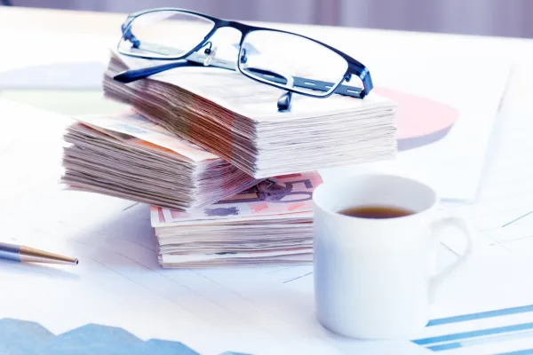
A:
<svg viewBox="0 0 533 355">
<path fill-rule="evenodd" d="M 2 355 L 197 355 L 184 343 L 150 339 L 143 341 L 120 327 L 88 324 L 60 335 L 38 323 L 0 319 Z M 247 355 L 227 351 L 221 355 Z"/>
</svg>

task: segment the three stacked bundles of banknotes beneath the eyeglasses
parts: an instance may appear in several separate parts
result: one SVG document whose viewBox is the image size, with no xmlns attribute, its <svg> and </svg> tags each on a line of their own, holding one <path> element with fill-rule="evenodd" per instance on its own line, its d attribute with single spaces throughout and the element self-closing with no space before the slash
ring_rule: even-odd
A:
<svg viewBox="0 0 533 355">
<path fill-rule="evenodd" d="M 107 98 L 131 106 L 76 117 L 63 181 L 151 205 L 163 267 L 309 264 L 318 170 L 394 158 L 396 104 L 295 95 L 232 70 L 179 67 L 132 83 L 157 63 L 112 51 Z"/>
</svg>

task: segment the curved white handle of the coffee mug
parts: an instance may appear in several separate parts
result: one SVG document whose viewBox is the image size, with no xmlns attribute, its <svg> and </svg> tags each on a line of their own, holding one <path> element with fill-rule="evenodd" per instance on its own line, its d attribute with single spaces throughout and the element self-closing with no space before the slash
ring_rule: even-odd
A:
<svg viewBox="0 0 533 355">
<path fill-rule="evenodd" d="M 446 277 L 449 276 L 451 272 L 457 271 L 457 269 L 463 264 L 465 264 L 465 261 L 472 255 L 472 235 L 470 233 L 470 228 L 468 227 L 468 224 L 466 223 L 464 218 L 457 216 L 447 216 L 439 218 L 432 225 L 433 235 L 438 236 L 438 234 L 442 233 L 442 231 L 449 226 L 454 226 L 465 234 L 466 248 L 463 254 L 459 256 L 453 264 L 450 264 L 446 269 L 435 275 L 431 280 L 430 299 L 432 301 L 435 298 L 436 288 L 439 288 L 439 286 L 442 285 L 442 281 L 446 279 Z"/>
</svg>

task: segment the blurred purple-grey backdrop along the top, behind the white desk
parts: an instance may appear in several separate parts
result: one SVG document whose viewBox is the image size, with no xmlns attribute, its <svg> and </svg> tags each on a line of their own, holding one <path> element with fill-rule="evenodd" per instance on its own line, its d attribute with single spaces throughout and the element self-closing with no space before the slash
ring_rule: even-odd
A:
<svg viewBox="0 0 533 355">
<path fill-rule="evenodd" d="M 168 6 L 233 20 L 533 37 L 532 0 L 0 0 L 2 2 L 96 12 L 134 12 Z"/>
</svg>

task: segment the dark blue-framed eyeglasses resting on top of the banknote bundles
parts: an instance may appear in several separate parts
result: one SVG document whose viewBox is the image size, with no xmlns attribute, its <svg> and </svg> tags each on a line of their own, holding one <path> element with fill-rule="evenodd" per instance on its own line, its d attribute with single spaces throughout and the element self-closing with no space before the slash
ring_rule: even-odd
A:
<svg viewBox="0 0 533 355">
<path fill-rule="evenodd" d="M 241 33 L 235 59 L 217 56 L 212 36 L 220 28 Z M 292 93 L 313 98 L 332 94 L 364 99 L 372 90 L 369 70 L 342 51 L 313 38 L 272 28 L 221 20 L 175 8 L 131 13 L 122 25 L 117 51 L 141 59 L 172 60 L 153 67 L 127 70 L 114 79 L 121 83 L 155 75 L 175 67 L 211 66 L 239 71 L 259 83 L 285 91 L 280 111 L 290 109 Z M 352 75 L 362 87 L 347 86 Z"/>
</svg>

